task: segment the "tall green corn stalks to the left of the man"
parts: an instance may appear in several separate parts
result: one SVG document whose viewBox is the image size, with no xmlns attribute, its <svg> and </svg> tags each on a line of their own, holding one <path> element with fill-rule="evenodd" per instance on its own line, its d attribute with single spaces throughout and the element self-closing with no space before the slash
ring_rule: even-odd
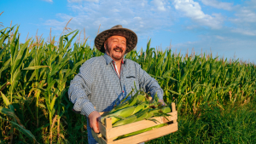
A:
<svg viewBox="0 0 256 144">
<path fill-rule="evenodd" d="M 33 140 L 27 138 L 44 143 L 86 141 L 86 135 L 81 135 L 85 133 L 86 118 L 72 112 L 67 89 L 79 66 L 102 53 L 90 49 L 85 41 L 70 47 L 78 31 L 61 36 L 56 46 L 52 43 L 54 38 L 50 43 L 38 38 L 20 43 L 18 28 L 5 28 L 0 35 L 0 103 L 15 115 L 11 118 L 6 111 L 2 112 L 0 138 L 28 143 Z M 81 122 L 74 124 L 76 119 Z M 3 125 L 9 125 L 10 130 Z M 79 135 L 75 131 L 78 126 Z"/>
</svg>

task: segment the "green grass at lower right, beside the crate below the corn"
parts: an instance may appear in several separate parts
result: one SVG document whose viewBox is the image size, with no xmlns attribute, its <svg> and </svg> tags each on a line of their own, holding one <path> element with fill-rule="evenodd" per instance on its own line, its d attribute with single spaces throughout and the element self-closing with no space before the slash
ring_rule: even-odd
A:
<svg viewBox="0 0 256 144">
<path fill-rule="evenodd" d="M 245 106 L 218 103 L 201 105 L 197 114 L 178 113 L 178 131 L 147 144 L 164 143 L 255 143 L 256 102 Z"/>
</svg>

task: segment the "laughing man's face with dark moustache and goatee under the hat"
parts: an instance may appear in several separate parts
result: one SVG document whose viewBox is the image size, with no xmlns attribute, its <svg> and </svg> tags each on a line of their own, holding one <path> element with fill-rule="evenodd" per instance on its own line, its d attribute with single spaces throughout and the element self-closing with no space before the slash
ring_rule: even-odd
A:
<svg viewBox="0 0 256 144">
<path fill-rule="evenodd" d="M 121 60 L 125 56 L 126 38 L 122 36 L 108 37 L 104 43 L 104 48 L 113 60 Z"/>
</svg>

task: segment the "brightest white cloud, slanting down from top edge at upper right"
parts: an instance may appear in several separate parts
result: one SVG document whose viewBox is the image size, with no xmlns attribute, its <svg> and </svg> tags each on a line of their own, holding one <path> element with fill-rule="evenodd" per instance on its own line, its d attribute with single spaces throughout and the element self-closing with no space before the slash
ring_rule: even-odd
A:
<svg viewBox="0 0 256 144">
<path fill-rule="evenodd" d="M 204 14 L 200 4 L 193 0 L 174 0 L 174 7 L 199 25 L 210 26 L 213 29 L 221 28 L 223 22 L 221 14 Z"/>
</svg>

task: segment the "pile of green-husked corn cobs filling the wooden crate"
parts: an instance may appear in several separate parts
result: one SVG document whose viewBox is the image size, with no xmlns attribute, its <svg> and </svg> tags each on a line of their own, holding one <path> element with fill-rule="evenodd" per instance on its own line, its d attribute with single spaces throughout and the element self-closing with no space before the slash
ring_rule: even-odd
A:
<svg viewBox="0 0 256 144">
<path fill-rule="evenodd" d="M 125 99 L 127 99 L 127 96 Z M 121 101 L 119 106 L 114 107 L 114 109 L 109 112 L 107 116 L 101 118 L 102 124 L 105 124 L 105 118 L 111 118 L 113 127 L 116 127 L 119 125 L 131 124 L 133 122 L 151 118 L 160 112 L 171 112 L 170 107 L 155 108 L 160 106 L 157 96 L 154 96 L 154 101 L 152 103 L 146 101 L 146 94 L 141 95 L 138 94 L 138 92 L 136 95 L 131 97 L 130 101 L 125 101 L 125 99 Z"/>
</svg>

